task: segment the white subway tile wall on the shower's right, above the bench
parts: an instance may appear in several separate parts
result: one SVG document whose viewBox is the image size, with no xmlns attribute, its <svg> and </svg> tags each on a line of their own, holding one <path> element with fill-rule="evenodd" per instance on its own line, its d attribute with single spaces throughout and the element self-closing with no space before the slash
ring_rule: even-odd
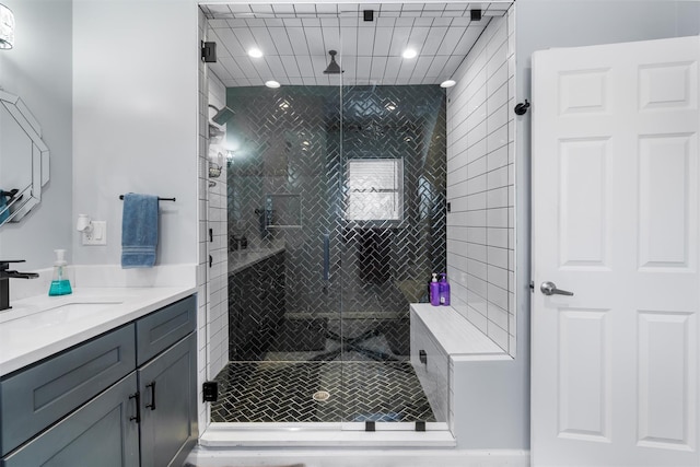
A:
<svg viewBox="0 0 700 467">
<path fill-rule="evenodd" d="M 515 353 L 514 10 L 494 17 L 447 90 L 452 305 Z"/>
</svg>

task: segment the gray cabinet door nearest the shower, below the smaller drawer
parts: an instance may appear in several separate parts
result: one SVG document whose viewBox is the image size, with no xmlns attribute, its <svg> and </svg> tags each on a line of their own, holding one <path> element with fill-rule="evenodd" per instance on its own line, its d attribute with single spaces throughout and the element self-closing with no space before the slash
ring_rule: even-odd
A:
<svg viewBox="0 0 700 467">
<path fill-rule="evenodd" d="M 182 465 L 197 441 L 197 336 L 138 370 L 141 465 Z"/>
</svg>

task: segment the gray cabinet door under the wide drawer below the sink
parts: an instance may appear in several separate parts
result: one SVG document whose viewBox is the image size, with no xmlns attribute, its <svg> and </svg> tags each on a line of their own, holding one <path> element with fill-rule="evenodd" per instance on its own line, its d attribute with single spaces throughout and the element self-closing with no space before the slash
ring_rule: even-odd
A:
<svg viewBox="0 0 700 467">
<path fill-rule="evenodd" d="M 136 372 L 4 457 L 3 467 L 136 467 Z"/>
</svg>

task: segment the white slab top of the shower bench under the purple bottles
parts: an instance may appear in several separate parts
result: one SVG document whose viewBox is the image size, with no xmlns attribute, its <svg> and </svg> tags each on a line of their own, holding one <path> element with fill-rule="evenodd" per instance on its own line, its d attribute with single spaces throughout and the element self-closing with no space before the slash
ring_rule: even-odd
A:
<svg viewBox="0 0 700 467">
<path fill-rule="evenodd" d="M 448 355 L 505 353 L 503 349 L 452 306 L 411 303 L 411 310 L 423 322 Z"/>
</svg>

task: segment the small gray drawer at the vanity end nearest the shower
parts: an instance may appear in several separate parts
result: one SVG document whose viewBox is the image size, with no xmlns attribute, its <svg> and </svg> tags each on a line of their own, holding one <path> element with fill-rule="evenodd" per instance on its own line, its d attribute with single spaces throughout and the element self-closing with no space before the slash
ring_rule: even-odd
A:
<svg viewBox="0 0 700 467">
<path fill-rule="evenodd" d="M 137 364 L 141 365 L 196 329 L 195 295 L 136 322 Z"/>
</svg>

